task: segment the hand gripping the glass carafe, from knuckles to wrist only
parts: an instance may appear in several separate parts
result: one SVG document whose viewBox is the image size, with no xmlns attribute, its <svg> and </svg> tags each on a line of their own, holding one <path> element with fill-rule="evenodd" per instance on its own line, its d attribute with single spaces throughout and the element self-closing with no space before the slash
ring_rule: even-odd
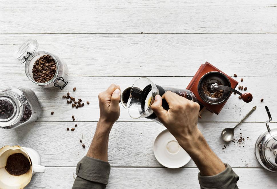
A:
<svg viewBox="0 0 277 189">
<path fill-rule="evenodd" d="M 168 102 L 168 111 L 162 107 L 162 98 Z M 171 91 L 166 91 L 162 98 L 156 95 L 155 101 L 151 105 L 156 116 L 179 144 L 193 140 L 192 136 L 199 133 L 197 128 L 199 104 Z"/>
</svg>

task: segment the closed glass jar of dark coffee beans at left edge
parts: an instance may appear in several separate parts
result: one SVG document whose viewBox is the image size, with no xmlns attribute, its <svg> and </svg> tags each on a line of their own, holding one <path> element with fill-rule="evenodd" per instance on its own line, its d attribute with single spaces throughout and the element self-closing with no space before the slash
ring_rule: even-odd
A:
<svg viewBox="0 0 277 189">
<path fill-rule="evenodd" d="M 41 104 L 31 89 L 10 87 L 0 92 L 0 128 L 13 129 L 30 124 L 41 113 Z"/>
</svg>

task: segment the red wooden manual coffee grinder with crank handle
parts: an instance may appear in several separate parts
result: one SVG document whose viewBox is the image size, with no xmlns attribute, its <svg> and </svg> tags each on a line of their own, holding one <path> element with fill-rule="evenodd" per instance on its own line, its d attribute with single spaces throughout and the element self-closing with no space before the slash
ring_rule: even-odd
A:
<svg viewBox="0 0 277 189">
<path fill-rule="evenodd" d="M 219 114 L 232 92 L 241 96 L 244 102 L 251 102 L 250 93 L 240 93 L 235 90 L 238 82 L 210 63 L 202 64 L 186 89 L 192 91 L 204 109 Z"/>
</svg>

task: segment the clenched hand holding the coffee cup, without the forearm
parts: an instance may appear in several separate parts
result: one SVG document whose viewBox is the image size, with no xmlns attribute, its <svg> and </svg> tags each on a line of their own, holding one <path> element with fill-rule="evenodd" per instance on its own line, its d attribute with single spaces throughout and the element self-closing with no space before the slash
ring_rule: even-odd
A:
<svg viewBox="0 0 277 189">
<path fill-rule="evenodd" d="M 120 87 L 115 84 L 111 84 L 106 91 L 99 93 L 100 123 L 112 127 L 116 120 L 118 120 L 120 115 L 120 95 Z"/>
</svg>

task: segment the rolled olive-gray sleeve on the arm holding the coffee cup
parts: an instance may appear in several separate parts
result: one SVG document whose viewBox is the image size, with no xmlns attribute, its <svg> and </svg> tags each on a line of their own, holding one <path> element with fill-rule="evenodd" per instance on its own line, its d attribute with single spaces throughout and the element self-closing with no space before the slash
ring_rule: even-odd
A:
<svg viewBox="0 0 277 189">
<path fill-rule="evenodd" d="M 85 156 L 77 164 L 77 177 L 72 188 L 105 189 L 108 184 L 110 171 L 111 166 L 108 162 Z"/>
</svg>

